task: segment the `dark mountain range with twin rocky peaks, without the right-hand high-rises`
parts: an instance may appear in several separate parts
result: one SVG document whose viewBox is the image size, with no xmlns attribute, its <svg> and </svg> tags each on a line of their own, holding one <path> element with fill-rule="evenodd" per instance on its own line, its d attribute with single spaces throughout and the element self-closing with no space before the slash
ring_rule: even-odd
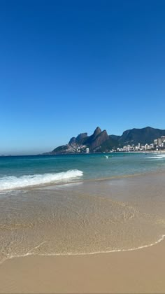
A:
<svg viewBox="0 0 165 294">
<path fill-rule="evenodd" d="M 78 134 L 77 137 L 72 137 L 68 144 L 59 146 L 48 154 L 85 153 L 86 148 L 89 148 L 89 151 L 92 153 L 107 152 L 117 147 L 122 148 L 128 144 L 151 144 L 161 136 L 165 136 L 165 130 L 152 127 L 127 130 L 123 132 L 122 136 L 108 135 L 106 130 L 101 131 L 100 127 L 96 127 L 91 136 L 88 136 L 87 133 Z"/>
</svg>

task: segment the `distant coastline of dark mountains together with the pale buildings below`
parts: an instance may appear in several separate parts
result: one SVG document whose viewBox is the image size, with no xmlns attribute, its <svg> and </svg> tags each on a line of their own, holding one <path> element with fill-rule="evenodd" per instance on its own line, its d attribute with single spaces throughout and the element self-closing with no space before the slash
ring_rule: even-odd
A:
<svg viewBox="0 0 165 294">
<path fill-rule="evenodd" d="M 106 130 L 96 127 L 90 136 L 87 132 L 72 137 L 69 143 L 59 146 L 45 155 L 73 153 L 108 153 L 127 151 L 162 151 L 165 150 L 165 130 L 144 127 L 123 132 L 122 136 L 108 135 Z"/>
</svg>

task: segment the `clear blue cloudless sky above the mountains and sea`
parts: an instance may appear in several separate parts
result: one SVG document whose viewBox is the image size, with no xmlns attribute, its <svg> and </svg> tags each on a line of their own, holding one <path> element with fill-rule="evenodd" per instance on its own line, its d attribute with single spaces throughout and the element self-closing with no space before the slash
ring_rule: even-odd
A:
<svg viewBox="0 0 165 294">
<path fill-rule="evenodd" d="M 165 129 L 164 0 L 1 0 L 0 154 Z"/>
</svg>

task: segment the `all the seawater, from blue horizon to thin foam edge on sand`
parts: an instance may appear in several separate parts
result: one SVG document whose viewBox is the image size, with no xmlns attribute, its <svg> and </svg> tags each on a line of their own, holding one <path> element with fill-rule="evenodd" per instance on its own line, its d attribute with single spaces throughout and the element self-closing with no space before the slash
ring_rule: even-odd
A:
<svg viewBox="0 0 165 294">
<path fill-rule="evenodd" d="M 156 244 L 164 175 L 156 153 L 0 157 L 0 262 Z"/>
</svg>

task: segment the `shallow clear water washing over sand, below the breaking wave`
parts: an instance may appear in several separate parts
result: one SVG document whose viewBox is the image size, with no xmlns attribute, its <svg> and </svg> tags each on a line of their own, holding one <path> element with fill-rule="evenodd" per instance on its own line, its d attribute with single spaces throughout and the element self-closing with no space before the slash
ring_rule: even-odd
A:
<svg viewBox="0 0 165 294">
<path fill-rule="evenodd" d="M 164 174 L 1 193 L 0 259 L 130 250 L 165 233 Z"/>
</svg>

